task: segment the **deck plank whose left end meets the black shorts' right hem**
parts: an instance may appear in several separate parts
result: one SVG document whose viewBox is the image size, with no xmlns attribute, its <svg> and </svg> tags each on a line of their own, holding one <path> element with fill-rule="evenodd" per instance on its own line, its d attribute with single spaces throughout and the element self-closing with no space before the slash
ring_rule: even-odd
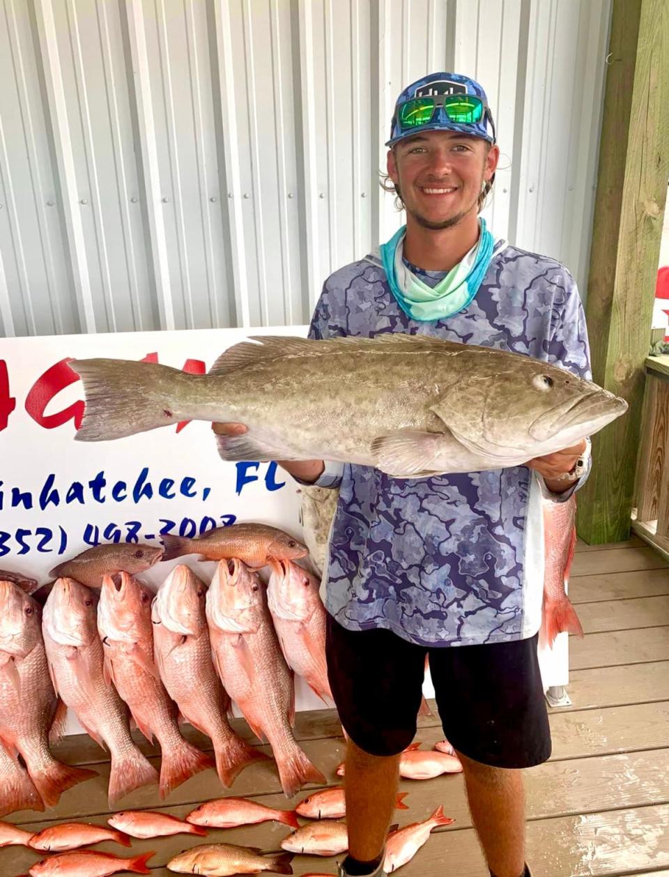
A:
<svg viewBox="0 0 669 877">
<path fill-rule="evenodd" d="M 574 712 L 553 709 L 549 719 L 552 760 L 658 749 L 667 743 L 669 701 Z"/>
</svg>

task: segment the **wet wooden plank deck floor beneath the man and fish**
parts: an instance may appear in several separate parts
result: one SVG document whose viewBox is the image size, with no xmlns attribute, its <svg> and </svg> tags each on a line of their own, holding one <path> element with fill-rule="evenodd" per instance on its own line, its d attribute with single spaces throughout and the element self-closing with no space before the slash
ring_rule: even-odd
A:
<svg viewBox="0 0 669 877">
<path fill-rule="evenodd" d="M 532 873 L 534 877 L 651 873 L 669 877 L 669 563 L 637 538 L 615 547 L 579 545 L 571 595 L 587 635 L 570 642 L 573 706 L 552 710 L 552 759 L 526 772 Z M 238 729 L 252 738 L 246 724 L 238 722 Z M 203 747 L 208 743 L 191 729 L 187 736 Z M 297 736 L 335 784 L 334 770 L 344 754 L 335 714 L 328 710 L 299 714 Z M 431 746 L 442 737 L 437 717 L 421 720 L 416 739 Z M 155 756 L 154 748 L 146 743 L 143 748 Z M 102 750 L 82 737 L 68 738 L 56 752 L 72 764 L 95 766 L 99 778 L 70 789 L 45 814 L 18 813 L 9 817 L 11 821 L 32 831 L 73 818 L 104 823 L 109 812 L 109 766 Z M 433 833 L 416 859 L 403 868 L 404 877 L 487 875 L 466 809 L 462 777 L 404 781 L 403 790 L 409 793 L 410 809 L 398 812 L 402 824 L 423 819 L 438 804 L 456 820 Z M 183 816 L 197 802 L 222 794 L 216 775 L 209 771 L 176 789 L 162 809 Z M 233 794 L 288 806 L 269 766 L 246 769 Z M 122 804 L 123 809 L 156 809 L 159 802 L 154 789 L 139 789 Z M 276 850 L 287 833 L 285 826 L 265 824 L 212 831 L 209 840 Z M 187 835 L 137 840 L 132 852 L 157 851 L 150 863 L 153 873 L 167 877 L 167 859 L 199 842 L 200 838 Z M 117 845 L 96 848 L 128 854 Z M 38 858 L 38 853 L 22 847 L 0 850 L 0 875 L 25 873 Z M 333 859 L 296 857 L 293 866 L 295 874 L 334 873 Z"/>
</svg>

